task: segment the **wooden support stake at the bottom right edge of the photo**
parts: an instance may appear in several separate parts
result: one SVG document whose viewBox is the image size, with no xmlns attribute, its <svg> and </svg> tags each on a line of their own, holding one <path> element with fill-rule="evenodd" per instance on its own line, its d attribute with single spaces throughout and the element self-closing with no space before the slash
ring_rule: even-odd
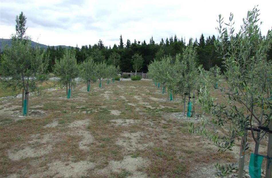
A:
<svg viewBox="0 0 272 178">
<path fill-rule="evenodd" d="M 272 177 L 272 122 L 269 121 L 269 130 L 270 133 L 268 133 L 268 146 L 267 146 L 267 161 L 266 161 L 266 174 L 265 178 L 271 178 Z"/>
</svg>

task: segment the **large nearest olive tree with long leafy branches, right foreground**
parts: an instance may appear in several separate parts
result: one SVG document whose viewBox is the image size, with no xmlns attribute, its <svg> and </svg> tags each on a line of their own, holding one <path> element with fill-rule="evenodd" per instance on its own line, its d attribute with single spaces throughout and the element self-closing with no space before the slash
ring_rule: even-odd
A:
<svg viewBox="0 0 272 178">
<path fill-rule="evenodd" d="M 243 19 L 243 25 L 237 34 L 234 34 L 233 14 L 230 14 L 229 27 L 223 28 L 224 24 L 219 15 L 219 40 L 215 42 L 217 51 L 224 59 L 226 87 L 218 87 L 224 94 L 224 101 L 220 104 L 214 102 L 209 87 L 200 89 L 199 103 L 205 112 L 216 116 L 212 120 L 215 130 L 222 126 L 229 126 L 229 134 L 217 135 L 208 131 L 205 126 L 194 127 L 191 132 L 208 136 L 214 141 L 220 150 L 231 150 L 235 140 L 240 137 L 241 150 L 239 160 L 238 177 L 243 176 L 245 151 L 248 149 L 247 130 L 255 142 L 253 159 L 256 159 L 259 144 L 265 136 L 269 135 L 267 151 L 266 177 L 271 177 L 272 157 L 272 122 L 271 122 L 271 86 L 272 86 L 272 63 L 267 60 L 268 49 L 272 45 L 272 32 L 269 30 L 266 36 L 260 36 L 259 10 L 253 8 L 248 11 Z M 261 24 L 261 23 L 260 23 Z M 227 35 L 229 42 L 224 40 Z M 203 76 L 206 78 L 206 76 Z M 255 162 L 254 162 L 255 163 Z"/>
</svg>

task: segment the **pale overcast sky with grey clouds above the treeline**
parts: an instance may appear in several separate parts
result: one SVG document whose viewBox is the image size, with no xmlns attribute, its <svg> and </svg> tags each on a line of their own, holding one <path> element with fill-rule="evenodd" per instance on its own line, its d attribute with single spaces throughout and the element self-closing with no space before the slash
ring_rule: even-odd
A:
<svg viewBox="0 0 272 178">
<path fill-rule="evenodd" d="M 236 30 L 247 11 L 259 5 L 263 34 L 272 26 L 272 1 L 96 1 L 96 0 L 0 0 L 0 38 L 10 38 L 15 33 L 15 17 L 21 11 L 27 17 L 27 35 L 46 45 L 79 47 L 94 44 L 101 39 L 105 46 L 123 41 L 146 40 L 153 36 L 156 43 L 161 38 L 176 34 L 178 38 L 199 39 L 214 34 L 218 14 L 227 20 L 234 13 Z M 222 5 L 224 4 L 224 5 Z"/>
</svg>

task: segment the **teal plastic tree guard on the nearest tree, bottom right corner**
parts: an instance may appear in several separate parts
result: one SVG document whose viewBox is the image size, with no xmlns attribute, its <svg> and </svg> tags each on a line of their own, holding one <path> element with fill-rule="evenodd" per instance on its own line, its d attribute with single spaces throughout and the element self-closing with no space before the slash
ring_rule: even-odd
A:
<svg viewBox="0 0 272 178">
<path fill-rule="evenodd" d="M 249 175 L 251 176 L 251 178 L 261 177 L 262 163 L 263 163 L 262 155 L 251 153 L 249 161 Z"/>
</svg>

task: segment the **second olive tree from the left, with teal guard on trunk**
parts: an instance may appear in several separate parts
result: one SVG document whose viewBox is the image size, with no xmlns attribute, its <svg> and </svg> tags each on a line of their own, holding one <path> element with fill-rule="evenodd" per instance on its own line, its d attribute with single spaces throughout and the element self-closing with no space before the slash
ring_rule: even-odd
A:
<svg viewBox="0 0 272 178">
<path fill-rule="evenodd" d="M 66 85 L 67 98 L 71 98 L 71 86 L 75 85 L 75 78 L 79 74 L 79 66 L 76 63 L 76 52 L 74 50 L 65 50 L 63 57 L 56 61 L 54 73 L 60 77 L 60 84 Z"/>
</svg>

